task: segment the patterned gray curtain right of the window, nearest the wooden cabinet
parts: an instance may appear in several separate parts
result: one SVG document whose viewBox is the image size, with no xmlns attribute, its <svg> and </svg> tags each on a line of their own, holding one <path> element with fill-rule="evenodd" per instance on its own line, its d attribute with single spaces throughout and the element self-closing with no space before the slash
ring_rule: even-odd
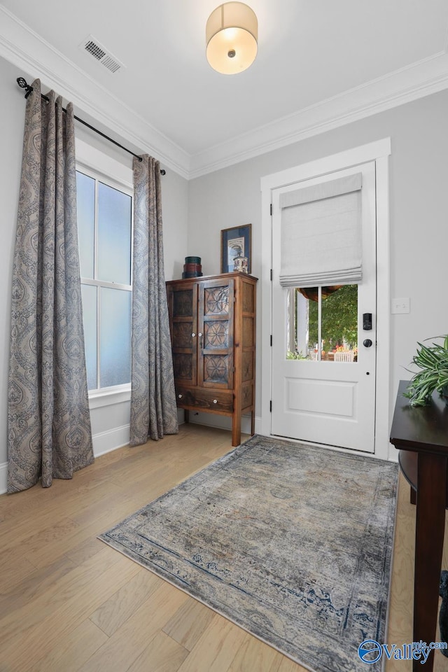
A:
<svg viewBox="0 0 448 672">
<path fill-rule="evenodd" d="M 176 434 L 176 395 L 163 265 L 160 164 L 134 158 L 130 444 Z"/>
</svg>

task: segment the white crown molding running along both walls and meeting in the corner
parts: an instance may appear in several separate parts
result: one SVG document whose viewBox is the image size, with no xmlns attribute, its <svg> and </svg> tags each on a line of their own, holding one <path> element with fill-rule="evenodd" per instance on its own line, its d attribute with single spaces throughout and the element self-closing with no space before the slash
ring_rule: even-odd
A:
<svg viewBox="0 0 448 672">
<path fill-rule="evenodd" d="M 76 111 L 185 179 L 235 165 L 448 88 L 447 50 L 189 155 L 0 5 L 0 56 L 71 100 Z M 18 76 L 23 72 L 18 72 Z M 88 121 L 88 119 L 86 119 Z"/>
</svg>

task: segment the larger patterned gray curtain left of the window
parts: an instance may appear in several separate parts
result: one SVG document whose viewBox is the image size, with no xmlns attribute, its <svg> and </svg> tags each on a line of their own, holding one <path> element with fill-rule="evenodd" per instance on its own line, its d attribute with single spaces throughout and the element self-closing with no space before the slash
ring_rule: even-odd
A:
<svg viewBox="0 0 448 672">
<path fill-rule="evenodd" d="M 27 99 L 13 266 L 8 492 L 92 463 L 76 222 L 73 108 Z"/>
</svg>

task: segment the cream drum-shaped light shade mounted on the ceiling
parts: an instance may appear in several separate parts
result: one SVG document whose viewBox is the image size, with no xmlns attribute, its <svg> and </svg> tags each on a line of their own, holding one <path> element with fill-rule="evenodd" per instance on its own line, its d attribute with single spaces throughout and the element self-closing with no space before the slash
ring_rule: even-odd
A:
<svg viewBox="0 0 448 672">
<path fill-rule="evenodd" d="M 258 21 L 242 2 L 226 2 L 209 16 L 206 28 L 207 60 L 226 75 L 242 72 L 257 55 Z"/>
</svg>

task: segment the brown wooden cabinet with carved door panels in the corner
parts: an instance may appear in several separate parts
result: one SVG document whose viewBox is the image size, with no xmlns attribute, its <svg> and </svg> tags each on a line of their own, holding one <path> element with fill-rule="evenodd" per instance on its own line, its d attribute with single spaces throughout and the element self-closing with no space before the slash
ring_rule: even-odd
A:
<svg viewBox="0 0 448 672">
<path fill-rule="evenodd" d="M 241 414 L 254 431 L 256 282 L 244 273 L 167 282 L 177 405 L 231 416 L 232 446 Z"/>
</svg>

